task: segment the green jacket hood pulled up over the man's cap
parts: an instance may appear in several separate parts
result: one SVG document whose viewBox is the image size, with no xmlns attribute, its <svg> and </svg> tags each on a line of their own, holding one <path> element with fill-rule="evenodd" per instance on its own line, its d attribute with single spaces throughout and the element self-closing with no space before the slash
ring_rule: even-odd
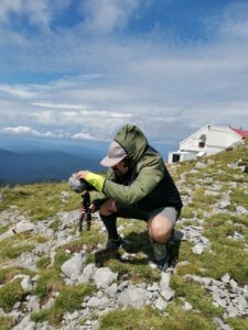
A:
<svg viewBox="0 0 248 330">
<path fill-rule="evenodd" d="M 145 148 L 148 140 L 143 132 L 133 124 L 125 124 L 114 138 L 126 151 L 131 162 L 131 167 L 140 160 Z"/>
</svg>

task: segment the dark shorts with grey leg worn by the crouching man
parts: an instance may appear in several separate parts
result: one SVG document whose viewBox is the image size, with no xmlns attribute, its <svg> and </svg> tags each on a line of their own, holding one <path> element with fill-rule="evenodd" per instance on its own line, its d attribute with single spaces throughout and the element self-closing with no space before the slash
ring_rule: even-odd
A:
<svg viewBox="0 0 248 330">
<path fill-rule="evenodd" d="M 150 218 L 160 215 L 166 218 L 173 227 L 175 226 L 175 222 L 180 216 L 180 211 L 174 207 L 162 207 L 148 212 L 140 211 L 132 206 L 122 205 L 120 202 L 116 202 L 116 207 L 118 217 L 120 218 L 130 218 L 148 221 Z"/>
</svg>

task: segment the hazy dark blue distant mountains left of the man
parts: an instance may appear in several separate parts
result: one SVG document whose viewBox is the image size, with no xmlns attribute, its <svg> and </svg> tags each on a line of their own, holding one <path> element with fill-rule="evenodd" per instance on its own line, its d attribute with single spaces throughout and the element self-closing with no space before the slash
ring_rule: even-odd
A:
<svg viewBox="0 0 248 330">
<path fill-rule="evenodd" d="M 103 170 L 96 154 L 72 155 L 60 151 L 10 152 L 0 148 L 0 184 L 67 179 L 79 169 Z"/>
</svg>

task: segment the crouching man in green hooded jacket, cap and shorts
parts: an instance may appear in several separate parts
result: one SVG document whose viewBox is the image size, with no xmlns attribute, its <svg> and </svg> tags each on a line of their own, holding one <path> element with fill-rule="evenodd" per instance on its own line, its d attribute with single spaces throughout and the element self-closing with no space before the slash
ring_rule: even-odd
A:
<svg viewBox="0 0 248 330">
<path fill-rule="evenodd" d="M 155 262 L 164 271 L 170 257 L 166 243 L 182 200 L 161 155 L 149 145 L 138 127 L 126 124 L 117 132 L 100 164 L 109 167 L 106 177 L 80 170 L 77 178 L 104 194 L 104 198 L 93 201 L 90 209 L 99 210 L 108 232 L 106 250 L 118 251 L 123 243 L 117 232 L 118 217 L 144 220 Z"/>
</svg>

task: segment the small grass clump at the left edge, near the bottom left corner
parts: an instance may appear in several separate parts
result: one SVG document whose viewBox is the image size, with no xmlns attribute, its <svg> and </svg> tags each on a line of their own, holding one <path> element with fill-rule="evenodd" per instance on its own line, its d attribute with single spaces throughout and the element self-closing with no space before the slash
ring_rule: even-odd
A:
<svg viewBox="0 0 248 330">
<path fill-rule="evenodd" d="M 11 311 L 15 302 L 22 301 L 25 297 L 20 283 L 18 278 L 0 287 L 0 307 L 7 312 Z"/>
</svg>

